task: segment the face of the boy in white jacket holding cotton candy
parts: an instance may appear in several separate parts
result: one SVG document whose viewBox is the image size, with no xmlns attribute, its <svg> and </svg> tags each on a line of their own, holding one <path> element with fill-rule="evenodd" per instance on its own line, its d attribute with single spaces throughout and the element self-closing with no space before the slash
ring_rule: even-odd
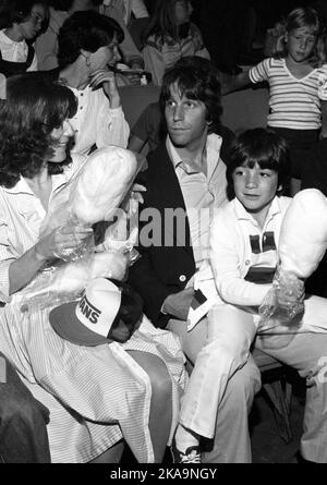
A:
<svg viewBox="0 0 327 485">
<path fill-rule="evenodd" d="M 263 226 L 278 186 L 278 173 L 262 169 L 259 165 L 251 169 L 238 167 L 233 171 L 233 184 L 237 198 L 247 213 Z"/>
</svg>

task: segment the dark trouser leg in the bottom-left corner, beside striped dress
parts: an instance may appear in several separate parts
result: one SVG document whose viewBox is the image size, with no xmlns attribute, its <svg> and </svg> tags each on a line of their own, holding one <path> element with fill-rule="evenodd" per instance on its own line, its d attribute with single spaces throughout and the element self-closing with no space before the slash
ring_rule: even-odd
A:
<svg viewBox="0 0 327 485">
<path fill-rule="evenodd" d="M 49 411 L 0 353 L 0 462 L 50 463 Z"/>
</svg>

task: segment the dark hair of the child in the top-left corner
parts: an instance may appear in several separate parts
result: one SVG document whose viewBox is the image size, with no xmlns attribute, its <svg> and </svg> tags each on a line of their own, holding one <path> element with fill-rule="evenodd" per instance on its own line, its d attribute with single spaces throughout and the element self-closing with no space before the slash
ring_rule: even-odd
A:
<svg viewBox="0 0 327 485">
<path fill-rule="evenodd" d="M 46 28 L 49 20 L 48 0 L 4 0 L 0 2 L 0 28 L 12 27 L 13 24 L 22 24 L 32 12 L 34 5 L 43 5 L 46 12 L 46 19 L 43 31 Z"/>
</svg>

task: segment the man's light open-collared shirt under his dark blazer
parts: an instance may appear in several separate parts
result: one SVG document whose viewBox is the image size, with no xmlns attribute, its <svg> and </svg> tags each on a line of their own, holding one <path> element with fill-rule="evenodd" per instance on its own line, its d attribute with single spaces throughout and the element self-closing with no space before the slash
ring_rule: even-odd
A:
<svg viewBox="0 0 327 485">
<path fill-rule="evenodd" d="M 214 209 L 227 203 L 226 166 L 220 158 L 222 138 L 210 134 L 206 143 L 207 174 L 181 160 L 177 149 L 167 137 L 167 149 L 175 169 L 183 194 L 194 259 L 199 268 L 209 255 L 209 228 Z"/>
</svg>

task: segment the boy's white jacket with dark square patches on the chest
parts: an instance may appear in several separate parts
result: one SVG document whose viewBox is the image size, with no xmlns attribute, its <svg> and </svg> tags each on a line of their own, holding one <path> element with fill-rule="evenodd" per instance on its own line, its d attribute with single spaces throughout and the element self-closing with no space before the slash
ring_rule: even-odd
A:
<svg viewBox="0 0 327 485">
<path fill-rule="evenodd" d="M 261 305 L 270 284 L 246 281 L 249 270 L 276 268 L 283 216 L 290 197 L 275 197 L 264 228 L 234 198 L 215 214 L 210 231 L 210 263 L 220 296 L 234 305 Z M 274 239 L 269 247 L 265 238 Z M 253 241 L 253 242 L 252 242 Z"/>
</svg>

